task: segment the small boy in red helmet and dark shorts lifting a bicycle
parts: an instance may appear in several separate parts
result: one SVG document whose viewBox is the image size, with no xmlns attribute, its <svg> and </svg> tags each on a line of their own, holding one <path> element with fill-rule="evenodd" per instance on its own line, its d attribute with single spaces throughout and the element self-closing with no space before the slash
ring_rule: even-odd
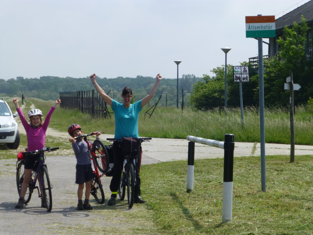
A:
<svg viewBox="0 0 313 235">
<path fill-rule="evenodd" d="M 88 151 L 88 146 L 85 140 L 82 138 L 74 139 L 74 137 L 80 136 L 83 134 L 80 125 L 72 124 L 69 126 L 68 129 L 69 135 L 69 142 L 72 143 L 72 147 L 75 153 L 75 157 L 77 160 L 76 163 L 76 180 L 75 183 L 78 184 L 77 190 L 77 210 L 92 210 L 92 206 L 89 203 L 90 197 L 90 190 L 91 190 L 91 180 L 93 179 L 93 170 L 91 167 L 90 161 L 90 153 Z M 99 135 L 101 132 L 96 133 L 96 139 L 99 139 Z M 86 185 L 85 189 L 85 201 L 83 203 L 83 190 L 84 184 Z"/>
</svg>

